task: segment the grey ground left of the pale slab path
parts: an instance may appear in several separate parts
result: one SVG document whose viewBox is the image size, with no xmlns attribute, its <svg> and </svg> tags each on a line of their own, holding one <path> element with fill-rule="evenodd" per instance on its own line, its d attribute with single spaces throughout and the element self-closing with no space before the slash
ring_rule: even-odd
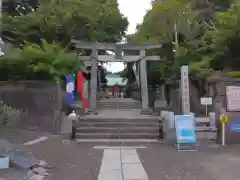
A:
<svg viewBox="0 0 240 180">
<path fill-rule="evenodd" d="M 97 180 L 102 160 L 102 151 L 93 145 L 62 143 L 54 138 L 29 149 L 44 159 L 53 169 L 51 180 Z"/>
</svg>

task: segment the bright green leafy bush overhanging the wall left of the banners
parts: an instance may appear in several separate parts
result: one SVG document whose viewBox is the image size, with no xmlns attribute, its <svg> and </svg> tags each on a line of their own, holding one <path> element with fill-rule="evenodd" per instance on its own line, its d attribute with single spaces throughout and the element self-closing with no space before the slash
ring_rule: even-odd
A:
<svg viewBox="0 0 240 180">
<path fill-rule="evenodd" d="M 60 45 L 26 44 L 0 58 L 0 80 L 55 80 L 75 73 L 80 66 L 77 54 L 68 52 Z"/>
</svg>

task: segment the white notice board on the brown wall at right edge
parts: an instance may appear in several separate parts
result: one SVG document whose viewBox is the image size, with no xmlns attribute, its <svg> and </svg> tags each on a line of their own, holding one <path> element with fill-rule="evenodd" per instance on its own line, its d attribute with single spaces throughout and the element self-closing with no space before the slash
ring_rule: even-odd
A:
<svg viewBox="0 0 240 180">
<path fill-rule="evenodd" d="M 226 96 L 228 111 L 240 111 L 240 86 L 227 86 Z"/>
</svg>

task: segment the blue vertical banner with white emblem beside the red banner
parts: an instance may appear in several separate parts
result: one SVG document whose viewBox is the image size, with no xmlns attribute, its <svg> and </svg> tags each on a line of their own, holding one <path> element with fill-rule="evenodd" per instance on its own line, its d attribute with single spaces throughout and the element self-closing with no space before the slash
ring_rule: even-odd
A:
<svg viewBox="0 0 240 180">
<path fill-rule="evenodd" d="M 71 105 L 75 101 L 75 75 L 69 74 L 66 76 L 66 103 Z"/>
</svg>

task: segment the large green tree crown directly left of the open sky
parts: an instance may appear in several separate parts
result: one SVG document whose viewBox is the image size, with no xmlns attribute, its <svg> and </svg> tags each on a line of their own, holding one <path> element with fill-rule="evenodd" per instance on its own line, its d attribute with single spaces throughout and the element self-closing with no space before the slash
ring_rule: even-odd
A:
<svg viewBox="0 0 240 180">
<path fill-rule="evenodd" d="M 3 16 L 3 35 L 15 40 L 40 43 L 82 41 L 118 42 L 128 25 L 116 0 L 43 0 L 25 16 Z"/>
</svg>

